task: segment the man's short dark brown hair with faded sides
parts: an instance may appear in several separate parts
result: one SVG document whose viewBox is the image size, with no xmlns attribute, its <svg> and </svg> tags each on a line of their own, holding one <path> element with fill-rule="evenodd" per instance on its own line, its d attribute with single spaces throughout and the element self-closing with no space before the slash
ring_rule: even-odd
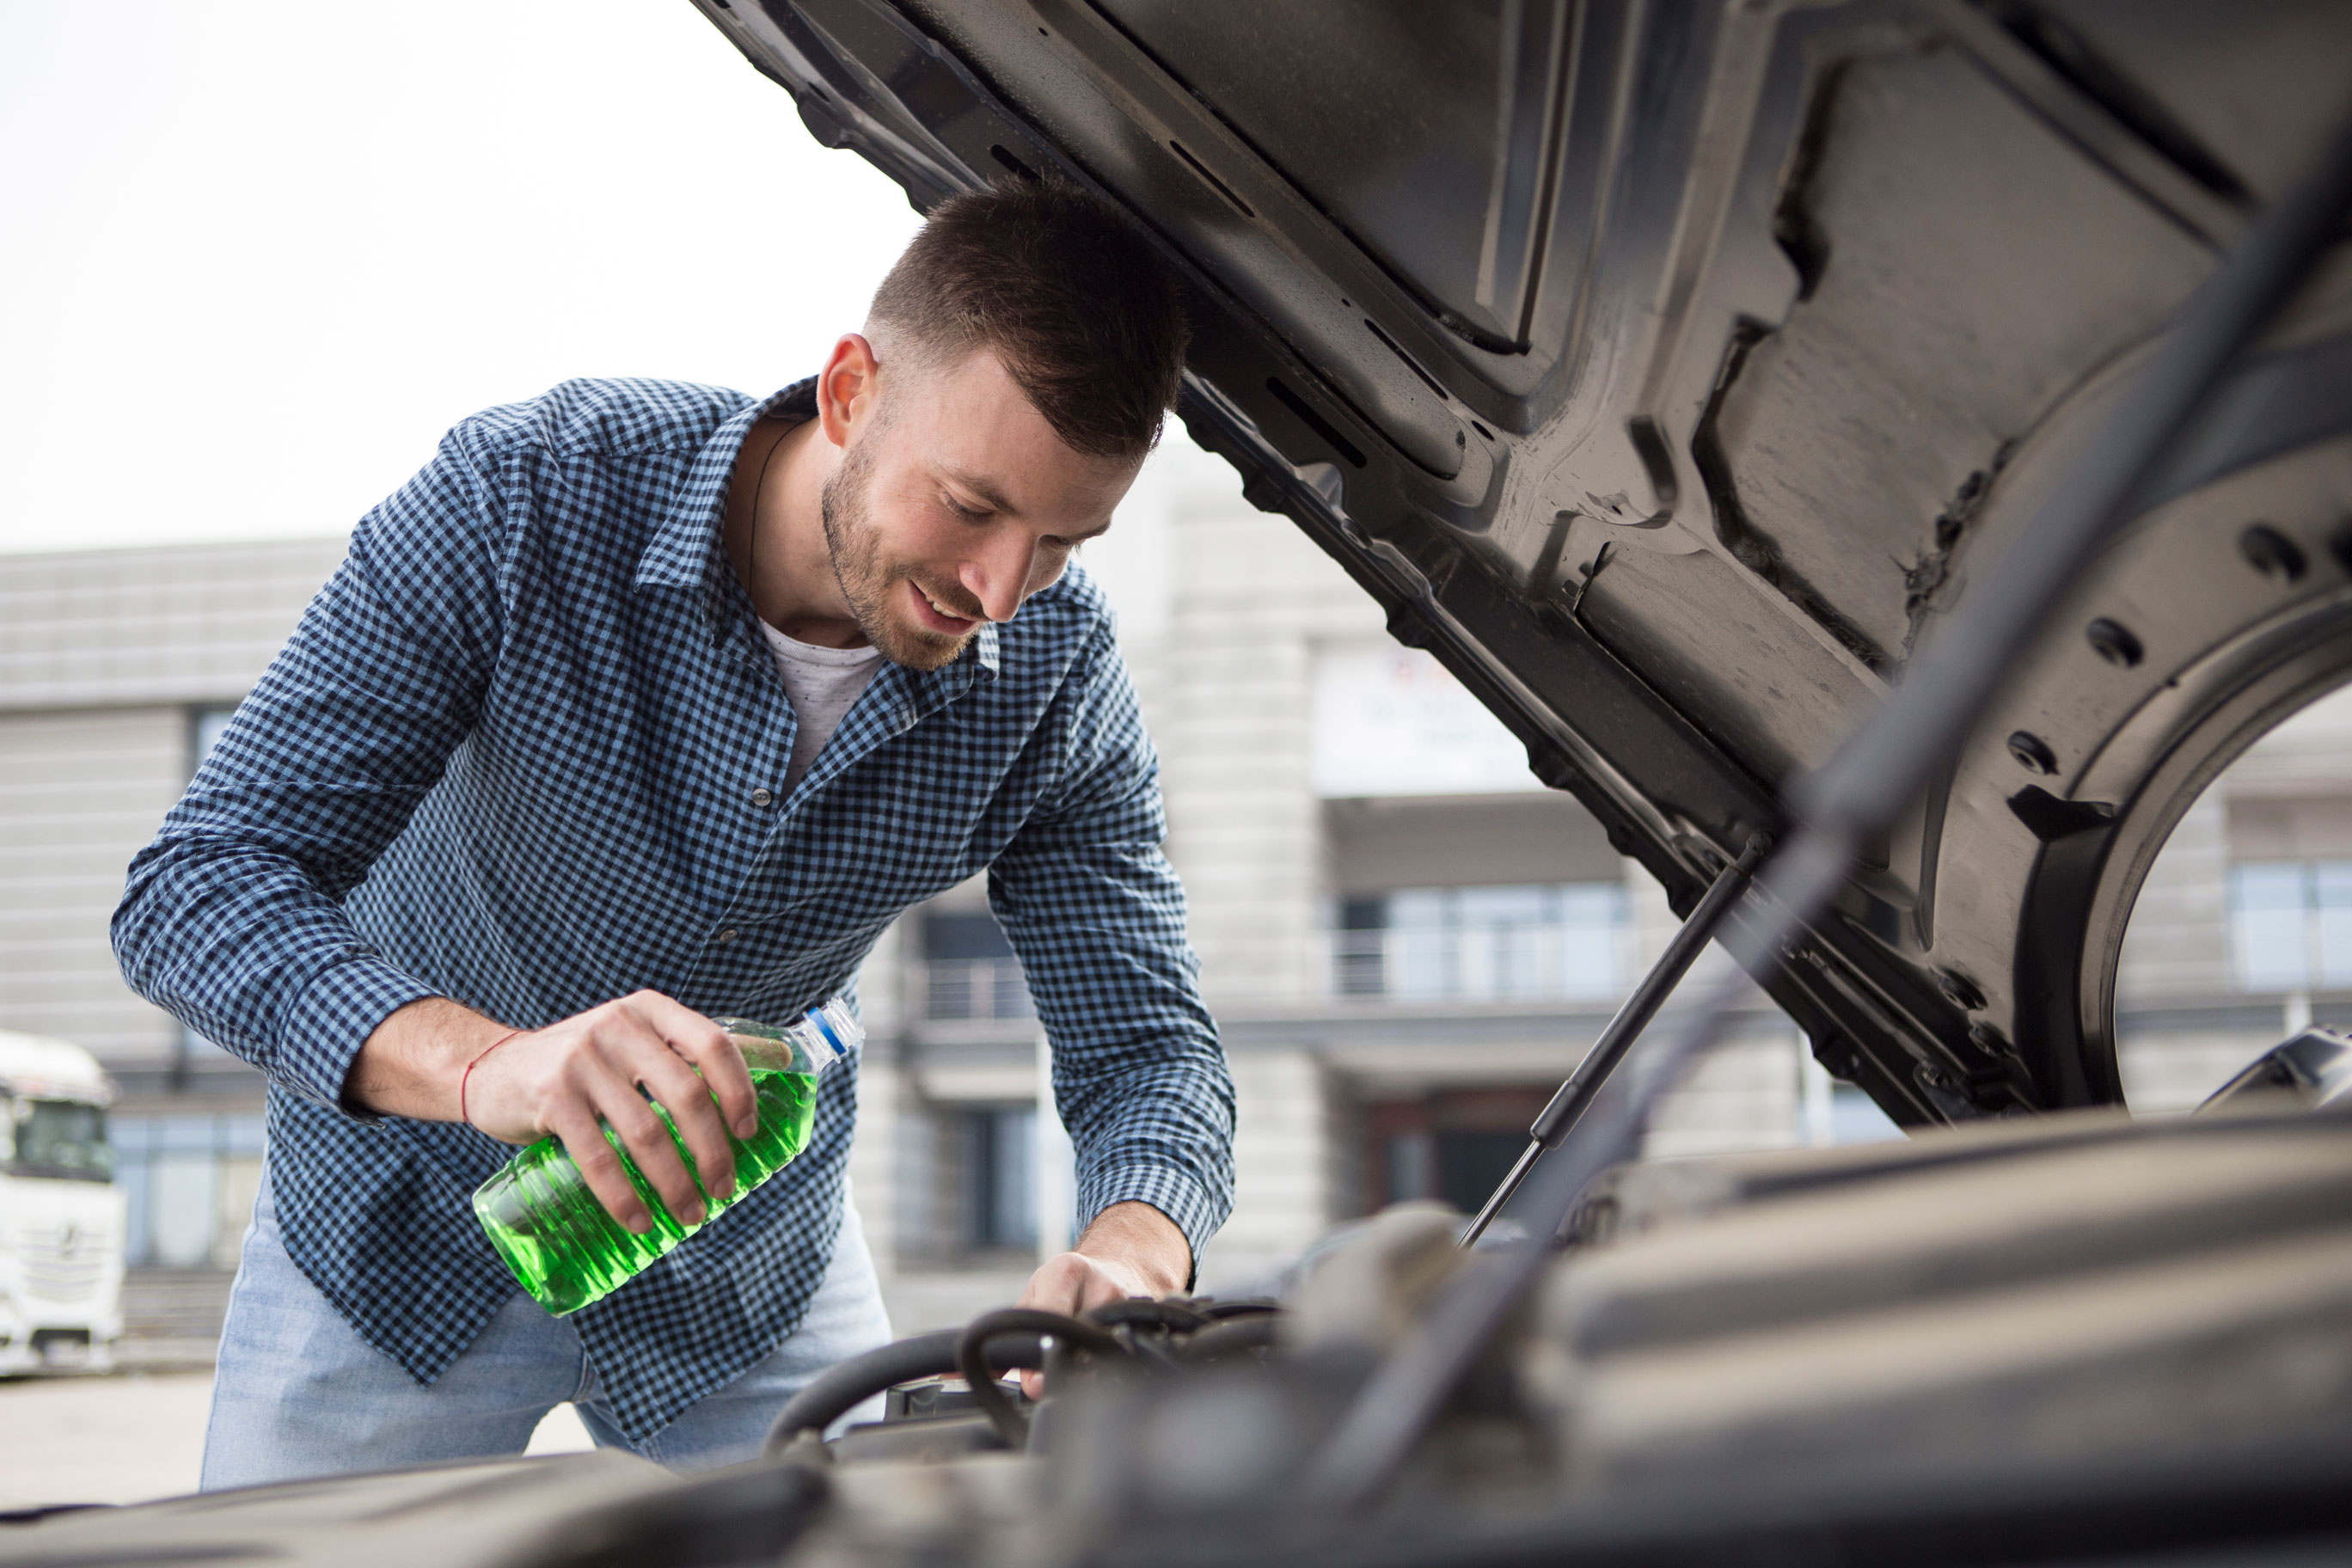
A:
<svg viewBox="0 0 2352 1568">
<path fill-rule="evenodd" d="M 934 207 L 868 322 L 920 360 L 993 348 L 1068 447 L 1122 458 L 1160 440 L 1190 336 L 1176 280 L 1136 226 L 1040 179 Z"/>
</svg>

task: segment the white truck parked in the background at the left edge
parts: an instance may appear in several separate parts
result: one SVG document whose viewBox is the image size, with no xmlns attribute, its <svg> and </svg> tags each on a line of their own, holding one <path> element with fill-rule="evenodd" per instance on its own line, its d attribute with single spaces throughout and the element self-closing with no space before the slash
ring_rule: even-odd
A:
<svg viewBox="0 0 2352 1568">
<path fill-rule="evenodd" d="M 125 1204 L 108 1100 L 80 1046 L 0 1030 L 0 1375 L 113 1366 Z"/>
</svg>

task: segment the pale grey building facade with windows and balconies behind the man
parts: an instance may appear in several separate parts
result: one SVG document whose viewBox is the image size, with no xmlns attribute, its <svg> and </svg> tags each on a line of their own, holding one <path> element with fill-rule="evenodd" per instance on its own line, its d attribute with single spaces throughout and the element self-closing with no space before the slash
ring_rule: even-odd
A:
<svg viewBox="0 0 2352 1568">
<path fill-rule="evenodd" d="M 0 1027 L 115 1072 L 134 1262 L 230 1267 L 261 1084 L 139 1001 L 122 870 L 341 557 L 339 538 L 0 557 Z M 1672 917 L 1571 799 L 1232 475 L 1174 437 L 1089 548 L 1157 738 L 1169 856 L 1232 1060 L 1240 1199 L 1202 1284 L 1334 1222 L 1472 1204 Z M 2296 1020 L 2352 1020 L 2352 703 L 2265 738 L 2183 820 L 2124 959 L 2138 1110 L 2194 1105 Z M 1070 1232 L 1044 1041 L 978 884 L 861 976 L 851 1182 L 903 1331 L 1009 1300 Z M 1651 1154 L 1889 1135 L 1757 997 Z"/>
</svg>

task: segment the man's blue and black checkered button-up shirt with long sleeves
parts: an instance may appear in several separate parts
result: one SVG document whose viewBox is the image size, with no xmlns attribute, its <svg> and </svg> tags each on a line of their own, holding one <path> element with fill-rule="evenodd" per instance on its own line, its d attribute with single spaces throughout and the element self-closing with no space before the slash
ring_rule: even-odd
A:
<svg viewBox="0 0 2352 1568">
<path fill-rule="evenodd" d="M 931 672 L 884 665 L 786 799 L 793 705 L 720 548 L 760 414 L 569 381 L 461 423 L 372 510 L 115 912 L 122 973 L 270 1079 L 287 1251 L 430 1382 L 517 1291 L 468 1194 L 513 1150 L 343 1107 L 419 997 L 546 1025 L 652 987 L 788 1020 L 908 905 L 988 872 L 1077 1150 L 1195 1253 L 1232 1201 L 1232 1084 L 1160 853 L 1157 759 L 1077 567 Z M 762 804 L 764 802 L 764 804 Z M 572 1321 L 642 1439 L 767 1356 L 833 1255 L 856 1072 L 809 1150 Z"/>
</svg>

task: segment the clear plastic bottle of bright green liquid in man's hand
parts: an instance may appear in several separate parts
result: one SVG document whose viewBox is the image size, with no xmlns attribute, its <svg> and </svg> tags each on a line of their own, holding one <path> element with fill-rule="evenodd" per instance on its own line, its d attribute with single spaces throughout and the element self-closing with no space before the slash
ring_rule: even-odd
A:
<svg viewBox="0 0 2352 1568">
<path fill-rule="evenodd" d="M 621 1288 L 644 1265 L 666 1255 L 809 1147 L 816 1077 L 866 1039 L 866 1030 L 840 997 L 781 1030 L 748 1018 L 715 1018 L 713 1023 L 727 1030 L 743 1051 L 750 1086 L 760 1100 L 760 1131 L 750 1138 L 727 1135 L 736 1154 L 736 1185 L 729 1197 L 710 1197 L 701 1175 L 694 1173 L 694 1157 L 687 1154 L 670 1112 L 654 1105 L 670 1128 L 677 1157 L 687 1161 L 687 1173 L 703 1192 L 701 1225 L 680 1225 L 670 1218 L 609 1124 L 604 1138 L 621 1154 L 621 1168 L 628 1171 L 630 1185 L 654 1218 L 642 1237 L 630 1234 L 604 1213 L 581 1178 L 581 1168 L 572 1164 L 572 1154 L 555 1138 L 541 1138 L 475 1187 L 473 1215 L 482 1222 L 482 1234 L 489 1237 L 522 1288 L 555 1316 L 579 1312 Z"/>
</svg>

